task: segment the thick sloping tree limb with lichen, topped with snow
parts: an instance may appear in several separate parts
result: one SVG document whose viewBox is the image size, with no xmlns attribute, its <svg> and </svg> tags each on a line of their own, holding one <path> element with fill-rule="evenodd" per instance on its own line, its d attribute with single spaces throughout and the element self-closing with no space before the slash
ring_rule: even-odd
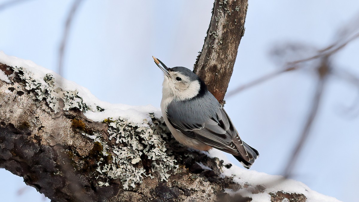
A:
<svg viewBox="0 0 359 202">
<path fill-rule="evenodd" d="M 159 109 L 100 101 L 3 52 L 0 167 L 52 201 L 337 201 L 232 165 L 218 150 L 187 150 Z"/>
</svg>

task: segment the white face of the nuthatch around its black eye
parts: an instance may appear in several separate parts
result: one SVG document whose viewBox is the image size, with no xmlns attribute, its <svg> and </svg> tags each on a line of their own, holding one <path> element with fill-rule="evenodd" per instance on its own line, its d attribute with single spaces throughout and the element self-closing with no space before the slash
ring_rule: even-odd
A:
<svg viewBox="0 0 359 202">
<path fill-rule="evenodd" d="M 164 75 L 162 94 L 164 99 L 189 100 L 200 91 L 200 82 L 191 80 L 180 72 L 169 72 Z M 171 100 L 172 100 L 171 99 Z"/>
</svg>

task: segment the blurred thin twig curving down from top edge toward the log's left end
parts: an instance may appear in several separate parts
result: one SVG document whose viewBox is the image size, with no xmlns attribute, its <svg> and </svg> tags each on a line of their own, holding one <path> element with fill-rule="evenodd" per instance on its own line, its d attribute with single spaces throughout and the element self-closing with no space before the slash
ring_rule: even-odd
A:
<svg viewBox="0 0 359 202">
<path fill-rule="evenodd" d="M 59 66 L 58 66 L 58 71 L 59 74 L 62 75 L 63 74 L 63 63 L 64 63 L 64 52 L 65 52 L 65 47 L 67 44 L 67 37 L 69 35 L 70 32 L 70 27 L 71 27 L 71 23 L 73 22 L 74 19 L 74 15 L 80 5 L 80 3 L 83 0 L 74 0 L 74 3 L 71 7 L 70 13 L 69 15 L 67 15 L 67 19 L 66 19 L 66 23 L 65 23 L 65 28 L 64 28 L 64 33 L 62 34 L 62 40 L 60 43 L 60 48 L 59 48 Z"/>
</svg>

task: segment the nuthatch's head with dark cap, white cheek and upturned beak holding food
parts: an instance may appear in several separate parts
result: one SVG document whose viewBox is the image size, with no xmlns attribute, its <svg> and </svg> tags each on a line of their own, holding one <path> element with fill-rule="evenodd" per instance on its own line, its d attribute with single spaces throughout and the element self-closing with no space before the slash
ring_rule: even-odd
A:
<svg viewBox="0 0 359 202">
<path fill-rule="evenodd" d="M 182 66 L 168 68 L 162 61 L 155 57 L 153 59 L 164 73 L 163 96 L 185 101 L 200 96 L 207 91 L 204 82 L 191 70 Z"/>
</svg>

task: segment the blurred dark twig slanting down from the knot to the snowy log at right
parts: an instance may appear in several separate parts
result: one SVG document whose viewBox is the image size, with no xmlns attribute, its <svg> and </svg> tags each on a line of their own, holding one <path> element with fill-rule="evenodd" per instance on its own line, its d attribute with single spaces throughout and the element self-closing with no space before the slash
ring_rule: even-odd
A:
<svg viewBox="0 0 359 202">
<path fill-rule="evenodd" d="M 324 58 L 321 63 L 321 66 L 318 68 L 319 81 L 318 81 L 318 84 L 316 87 L 316 92 L 313 97 L 311 110 L 309 111 L 307 122 L 304 125 L 303 131 L 300 135 L 300 140 L 297 143 L 297 146 L 295 147 L 295 149 L 293 150 L 292 155 L 290 156 L 288 163 L 285 167 L 284 174 L 283 174 L 283 176 L 285 178 L 288 178 L 290 176 L 290 174 L 292 173 L 293 167 L 294 167 L 295 163 L 297 162 L 299 153 L 302 150 L 304 144 L 306 143 L 306 140 L 308 139 L 314 119 L 317 116 L 319 105 L 320 105 L 322 95 L 323 95 L 323 90 L 325 87 L 325 82 L 327 79 L 327 74 L 330 73 L 327 60 L 328 60 L 327 57 Z"/>
</svg>

